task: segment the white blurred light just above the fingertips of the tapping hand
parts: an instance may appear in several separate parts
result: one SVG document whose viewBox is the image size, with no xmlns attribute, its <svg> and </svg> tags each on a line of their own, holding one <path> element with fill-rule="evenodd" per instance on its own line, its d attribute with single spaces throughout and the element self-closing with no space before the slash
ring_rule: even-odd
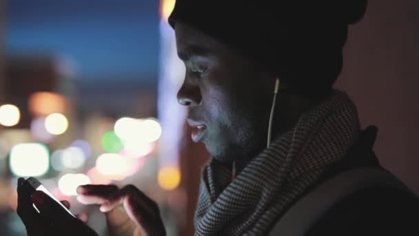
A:
<svg viewBox="0 0 419 236">
<path fill-rule="evenodd" d="M 58 181 L 61 193 L 67 196 L 76 196 L 77 187 L 84 184 L 90 184 L 90 179 L 87 175 L 83 174 L 65 174 Z"/>
</svg>

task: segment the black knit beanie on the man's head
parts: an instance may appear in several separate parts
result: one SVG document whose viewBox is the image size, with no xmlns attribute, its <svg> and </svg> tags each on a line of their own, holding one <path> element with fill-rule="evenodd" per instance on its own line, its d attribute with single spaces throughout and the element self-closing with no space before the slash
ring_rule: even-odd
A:
<svg viewBox="0 0 419 236">
<path fill-rule="evenodd" d="M 295 92 L 329 93 L 367 0 L 177 0 L 169 17 L 232 46 Z"/>
</svg>

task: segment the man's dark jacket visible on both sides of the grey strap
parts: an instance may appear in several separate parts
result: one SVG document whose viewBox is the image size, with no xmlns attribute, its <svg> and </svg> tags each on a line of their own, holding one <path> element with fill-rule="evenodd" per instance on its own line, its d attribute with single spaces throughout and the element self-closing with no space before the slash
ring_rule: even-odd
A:
<svg viewBox="0 0 419 236">
<path fill-rule="evenodd" d="M 330 166 L 313 188 L 345 170 L 382 168 L 372 150 L 376 132 L 372 126 L 364 130 L 347 157 Z M 327 210 L 307 235 L 419 235 L 419 200 L 409 191 L 390 187 L 358 190 Z"/>
</svg>

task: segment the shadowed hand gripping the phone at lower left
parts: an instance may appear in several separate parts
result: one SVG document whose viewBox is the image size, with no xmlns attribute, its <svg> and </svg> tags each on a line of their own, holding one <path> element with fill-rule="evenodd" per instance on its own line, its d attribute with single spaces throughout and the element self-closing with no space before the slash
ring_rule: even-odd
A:
<svg viewBox="0 0 419 236">
<path fill-rule="evenodd" d="M 17 214 L 25 224 L 29 236 L 40 235 L 86 235 L 97 234 L 84 224 L 80 219 L 68 214 L 54 199 L 41 191 L 35 191 L 32 196 L 31 190 L 25 179 L 19 178 Z M 39 212 L 32 206 L 34 204 Z M 64 203 L 69 205 L 68 202 Z"/>
</svg>

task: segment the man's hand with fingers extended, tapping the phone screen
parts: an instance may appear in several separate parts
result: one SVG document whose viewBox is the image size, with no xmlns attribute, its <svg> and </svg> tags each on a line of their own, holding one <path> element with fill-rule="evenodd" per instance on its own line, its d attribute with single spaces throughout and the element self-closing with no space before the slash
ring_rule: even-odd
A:
<svg viewBox="0 0 419 236">
<path fill-rule="evenodd" d="M 133 185 L 85 185 L 77 193 L 82 204 L 101 205 L 110 235 L 166 235 L 159 207 Z"/>
</svg>

